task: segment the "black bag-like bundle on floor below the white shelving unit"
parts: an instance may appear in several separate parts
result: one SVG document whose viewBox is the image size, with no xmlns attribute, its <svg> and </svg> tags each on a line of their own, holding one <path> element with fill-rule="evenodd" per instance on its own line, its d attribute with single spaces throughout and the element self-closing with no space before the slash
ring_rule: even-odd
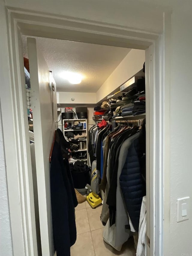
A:
<svg viewBox="0 0 192 256">
<path fill-rule="evenodd" d="M 85 188 L 87 184 L 91 185 L 91 167 L 83 161 L 76 161 L 70 164 L 71 175 L 75 188 Z"/>
</svg>

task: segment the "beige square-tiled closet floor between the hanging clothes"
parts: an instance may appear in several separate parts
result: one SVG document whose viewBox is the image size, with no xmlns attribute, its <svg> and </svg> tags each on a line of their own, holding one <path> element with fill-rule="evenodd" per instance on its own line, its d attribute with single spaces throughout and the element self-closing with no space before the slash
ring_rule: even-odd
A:
<svg viewBox="0 0 192 256">
<path fill-rule="evenodd" d="M 87 201 L 75 208 L 77 239 L 71 247 L 71 256 L 135 256 L 133 239 L 116 251 L 103 240 L 104 226 L 100 221 L 102 205 L 92 209 Z"/>
</svg>

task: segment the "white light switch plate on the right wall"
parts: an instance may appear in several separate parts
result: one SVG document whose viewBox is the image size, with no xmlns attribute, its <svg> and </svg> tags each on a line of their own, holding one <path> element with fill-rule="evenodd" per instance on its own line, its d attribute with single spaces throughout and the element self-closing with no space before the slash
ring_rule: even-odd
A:
<svg viewBox="0 0 192 256">
<path fill-rule="evenodd" d="M 177 222 L 189 219 L 190 207 L 189 197 L 183 197 L 177 199 Z"/>
</svg>

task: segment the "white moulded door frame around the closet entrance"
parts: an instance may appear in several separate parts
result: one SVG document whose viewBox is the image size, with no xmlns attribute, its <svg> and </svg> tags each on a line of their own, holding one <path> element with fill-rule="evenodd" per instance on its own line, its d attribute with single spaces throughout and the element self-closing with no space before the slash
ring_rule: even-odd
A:
<svg viewBox="0 0 192 256">
<path fill-rule="evenodd" d="M 148 212 L 150 211 L 151 214 L 147 230 L 148 234 L 149 232 L 151 234 L 148 255 L 163 255 L 164 35 L 15 8 L 7 8 L 7 28 L 11 86 L 9 93 L 6 93 L 6 100 L 1 102 L 1 108 L 14 255 L 34 255 L 35 246 L 35 214 L 33 188 L 30 182 L 32 179 L 30 150 L 26 137 L 28 124 L 25 118 L 26 97 L 21 33 L 146 50 L 146 82 L 149 84 L 146 91 L 147 170 L 149 170 L 147 197 L 150 200 Z M 10 104 L 12 109 L 12 113 L 9 113 L 13 127 L 11 131 L 7 131 L 5 111 L 7 104 Z M 10 133 L 15 137 L 11 148 Z"/>
</svg>

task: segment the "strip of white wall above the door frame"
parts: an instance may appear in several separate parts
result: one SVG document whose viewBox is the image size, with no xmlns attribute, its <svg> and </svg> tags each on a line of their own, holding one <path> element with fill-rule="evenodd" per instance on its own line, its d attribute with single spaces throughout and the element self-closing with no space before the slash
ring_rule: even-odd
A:
<svg viewBox="0 0 192 256">
<path fill-rule="evenodd" d="M 173 0 L 175 1 L 175 0 Z M 140 30 L 160 33 L 163 31 L 161 6 L 150 5 L 148 1 L 129 0 L 5 0 L 7 6 L 37 10 L 49 14 L 72 16 L 87 20 L 129 26 Z M 154 2 L 152 0 L 152 2 Z M 156 2 L 163 2 L 162 0 Z M 167 1 L 166 1 L 167 2 Z M 170 2 L 170 1 L 169 1 Z M 166 8 L 168 11 L 169 8 Z M 135 18 L 135 16 L 137 16 Z"/>
</svg>

